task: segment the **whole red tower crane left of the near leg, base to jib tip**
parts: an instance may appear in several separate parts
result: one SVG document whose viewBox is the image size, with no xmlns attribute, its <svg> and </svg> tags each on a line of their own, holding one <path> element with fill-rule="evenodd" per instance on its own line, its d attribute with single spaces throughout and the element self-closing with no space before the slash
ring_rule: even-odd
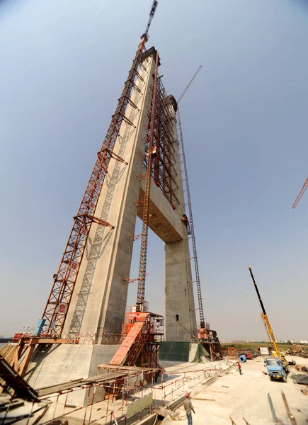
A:
<svg viewBox="0 0 308 425">
<path fill-rule="evenodd" d="M 149 27 L 154 18 L 157 5 L 158 1 L 154 0 L 149 13 L 146 30 L 141 36 L 141 42 L 139 42 L 132 67 L 125 81 L 122 94 L 118 99 L 118 105 L 115 113 L 112 115 L 103 144 L 97 154 L 96 162 L 81 200 L 79 210 L 74 216 L 72 230 L 62 254 L 59 268 L 57 269 L 57 273 L 53 275 L 52 288 L 47 297 L 42 318 L 38 321 L 33 335 L 29 336 L 27 333 L 18 333 L 13 338 L 13 341 L 18 341 L 18 351 L 14 360 L 14 368 L 21 373 L 21 376 L 25 374 L 28 368 L 28 363 L 36 344 L 67 344 L 67 339 L 62 338 L 64 324 L 79 275 L 81 261 L 84 257 L 91 225 L 94 222 L 99 226 L 109 227 L 111 229 L 110 231 L 114 228 L 113 225 L 95 216 L 96 206 L 110 161 L 115 160 L 127 165 L 127 162 L 113 152 L 113 148 L 118 139 L 123 121 L 128 125 L 132 125 L 130 120 L 125 116 L 125 113 L 127 111 L 127 105 L 130 103 L 132 91 L 136 86 L 135 81 L 139 76 L 138 71 L 142 63 L 145 43 L 149 38 Z M 18 360 L 25 347 L 26 351 L 23 362 L 18 366 Z"/>
</svg>

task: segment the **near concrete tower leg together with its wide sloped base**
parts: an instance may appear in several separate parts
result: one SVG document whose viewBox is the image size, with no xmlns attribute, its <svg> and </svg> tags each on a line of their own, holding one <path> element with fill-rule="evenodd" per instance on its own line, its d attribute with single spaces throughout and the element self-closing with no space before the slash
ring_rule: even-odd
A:
<svg viewBox="0 0 308 425">
<path fill-rule="evenodd" d="M 135 233 L 142 174 L 144 138 L 152 100 L 153 53 L 144 56 L 136 88 L 132 92 L 125 120 L 113 152 L 127 164 L 110 160 L 96 217 L 113 224 L 93 222 L 69 305 L 63 336 L 79 336 L 79 345 L 54 344 L 35 348 L 25 378 L 35 388 L 56 385 L 96 375 L 96 366 L 108 363 L 117 345 L 108 345 L 106 335 L 120 334 L 125 316 L 130 263 Z M 107 344 L 107 345 L 105 345 Z M 112 343 L 111 343 L 112 344 Z M 77 394 L 78 393 L 78 394 Z M 69 396 L 69 402 L 84 404 L 84 392 Z"/>
</svg>

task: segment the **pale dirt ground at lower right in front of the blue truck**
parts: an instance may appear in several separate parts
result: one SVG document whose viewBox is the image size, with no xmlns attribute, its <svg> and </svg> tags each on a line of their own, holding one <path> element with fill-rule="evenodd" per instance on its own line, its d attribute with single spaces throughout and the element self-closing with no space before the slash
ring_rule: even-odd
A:
<svg viewBox="0 0 308 425">
<path fill-rule="evenodd" d="M 288 357 L 288 360 L 292 360 Z M 308 367 L 308 359 L 295 357 L 299 365 Z M 193 425 L 218 425 L 232 424 L 231 416 L 236 425 L 246 424 L 273 424 L 273 416 L 268 404 L 268 392 L 273 400 L 274 408 L 280 423 L 291 424 L 287 416 L 281 391 L 285 393 L 290 410 L 295 416 L 297 425 L 308 424 L 308 395 L 304 395 L 301 389 L 308 390 L 306 385 L 293 383 L 290 375 L 296 373 L 294 366 L 290 367 L 290 375 L 287 382 L 270 381 L 268 375 L 263 374 L 263 358 L 258 357 L 253 361 L 242 364 L 243 374 L 239 375 L 232 368 L 228 375 L 215 380 L 212 385 L 193 388 L 191 392 L 193 407 Z M 178 408 L 180 421 L 187 424 L 186 414 L 183 407 Z M 164 422 L 178 423 L 178 420 L 167 419 Z"/>
</svg>

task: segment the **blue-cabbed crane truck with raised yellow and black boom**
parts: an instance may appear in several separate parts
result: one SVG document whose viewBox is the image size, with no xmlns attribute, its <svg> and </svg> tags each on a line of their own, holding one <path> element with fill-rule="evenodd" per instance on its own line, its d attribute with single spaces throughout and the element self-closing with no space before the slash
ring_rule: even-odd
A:
<svg viewBox="0 0 308 425">
<path fill-rule="evenodd" d="M 266 328 L 266 333 L 268 334 L 268 339 L 270 340 L 270 344 L 273 345 L 274 351 L 272 351 L 272 356 L 268 356 L 264 360 L 264 365 L 266 366 L 266 370 L 268 373 L 268 378 L 270 380 L 274 379 L 282 379 L 284 382 L 287 382 L 287 373 L 289 373 L 289 363 L 287 362 L 285 358 L 285 354 L 281 353 L 277 342 L 275 340 L 275 336 L 273 333 L 273 329 L 270 326 L 270 322 L 268 320 L 268 315 L 266 314 L 266 309 L 264 308 L 263 301 L 261 298 L 261 295 L 258 291 L 258 286 L 256 284 L 256 280 L 253 276 L 251 267 L 249 267 L 251 279 L 253 280 L 254 288 L 256 289 L 256 293 L 258 295 L 258 300 L 261 305 L 261 319 L 263 321 L 263 324 Z"/>
</svg>

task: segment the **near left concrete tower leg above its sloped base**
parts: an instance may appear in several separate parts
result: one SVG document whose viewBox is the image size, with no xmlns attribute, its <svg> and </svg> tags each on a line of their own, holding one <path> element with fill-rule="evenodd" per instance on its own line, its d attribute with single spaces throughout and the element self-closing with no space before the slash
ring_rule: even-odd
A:
<svg viewBox="0 0 308 425">
<path fill-rule="evenodd" d="M 132 101 L 139 111 L 127 106 L 125 115 L 136 128 L 122 122 L 114 152 L 128 165 L 110 160 L 101 195 L 98 199 L 96 217 L 115 226 L 91 225 L 84 257 L 81 261 L 76 288 L 64 324 L 65 331 L 73 334 L 121 333 L 125 316 L 130 263 L 135 233 L 140 182 L 142 173 L 144 137 L 148 122 L 147 108 L 151 102 L 154 62 L 149 57 L 141 69 L 142 79 L 137 80 L 142 94 L 133 91 Z M 97 341 L 100 343 L 98 337 Z"/>
</svg>

